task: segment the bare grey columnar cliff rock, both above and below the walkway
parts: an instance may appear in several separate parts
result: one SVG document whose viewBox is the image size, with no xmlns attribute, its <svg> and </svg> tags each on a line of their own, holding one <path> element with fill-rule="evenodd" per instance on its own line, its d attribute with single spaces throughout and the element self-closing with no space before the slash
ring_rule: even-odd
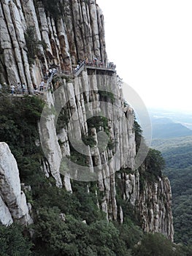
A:
<svg viewBox="0 0 192 256">
<path fill-rule="evenodd" d="M 44 1 L 1 1 L 1 83 L 26 83 L 33 93 L 50 67 L 71 73 L 85 57 L 107 67 L 104 19 L 96 1 L 53 3 L 55 10 Z M 37 43 L 34 53 L 29 32 Z M 173 240 L 169 181 L 162 176 L 148 181 L 145 163 L 134 168 L 134 110 L 123 99 L 116 72 L 83 66 L 78 75 L 55 75 L 51 82 L 38 124 L 45 176 L 69 192 L 73 179 L 96 181 L 98 207 L 107 219 L 123 223 L 125 211 L 134 207 L 143 230 Z"/>
</svg>

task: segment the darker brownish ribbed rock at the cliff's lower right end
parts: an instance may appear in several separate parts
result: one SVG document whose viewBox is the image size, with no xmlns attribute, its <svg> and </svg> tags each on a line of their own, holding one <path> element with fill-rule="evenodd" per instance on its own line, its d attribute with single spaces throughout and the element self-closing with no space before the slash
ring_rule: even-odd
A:
<svg viewBox="0 0 192 256">
<path fill-rule="evenodd" d="M 169 179 L 158 177 L 151 182 L 141 175 L 139 171 L 118 174 L 121 196 L 134 206 L 145 232 L 160 232 L 173 241 L 172 192 Z"/>
</svg>

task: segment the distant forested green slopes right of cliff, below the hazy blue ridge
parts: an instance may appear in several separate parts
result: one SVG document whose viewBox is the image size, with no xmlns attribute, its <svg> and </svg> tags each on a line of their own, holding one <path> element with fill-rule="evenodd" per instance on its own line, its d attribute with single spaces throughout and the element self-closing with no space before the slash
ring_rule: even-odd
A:
<svg viewBox="0 0 192 256">
<path fill-rule="evenodd" d="M 171 181 L 174 241 L 192 244 L 192 136 L 154 139 L 153 147 L 162 152 Z"/>
</svg>

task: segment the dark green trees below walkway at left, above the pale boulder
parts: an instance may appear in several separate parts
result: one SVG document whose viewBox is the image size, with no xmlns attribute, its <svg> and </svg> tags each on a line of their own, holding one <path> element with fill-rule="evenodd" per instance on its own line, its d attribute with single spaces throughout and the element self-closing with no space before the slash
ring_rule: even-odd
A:
<svg viewBox="0 0 192 256">
<path fill-rule="evenodd" d="M 0 141 L 8 143 L 18 162 L 22 182 L 31 184 L 31 175 L 40 169 L 43 156 L 37 122 L 43 102 L 38 97 L 0 97 Z"/>
</svg>

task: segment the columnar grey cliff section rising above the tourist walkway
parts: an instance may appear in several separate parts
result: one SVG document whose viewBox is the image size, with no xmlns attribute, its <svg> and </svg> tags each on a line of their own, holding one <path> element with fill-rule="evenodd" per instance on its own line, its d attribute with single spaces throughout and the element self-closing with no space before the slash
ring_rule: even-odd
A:
<svg viewBox="0 0 192 256">
<path fill-rule="evenodd" d="M 57 19 L 52 10 L 45 10 L 43 2 L 1 1 L 1 83 L 26 83 L 33 92 L 33 85 L 39 85 L 49 67 L 72 71 L 85 57 L 91 62 L 96 57 L 106 63 L 104 20 L 96 0 L 61 0 L 62 15 Z M 31 43 L 37 47 L 34 53 L 26 42 L 28 29 L 33 32 Z"/>
</svg>

